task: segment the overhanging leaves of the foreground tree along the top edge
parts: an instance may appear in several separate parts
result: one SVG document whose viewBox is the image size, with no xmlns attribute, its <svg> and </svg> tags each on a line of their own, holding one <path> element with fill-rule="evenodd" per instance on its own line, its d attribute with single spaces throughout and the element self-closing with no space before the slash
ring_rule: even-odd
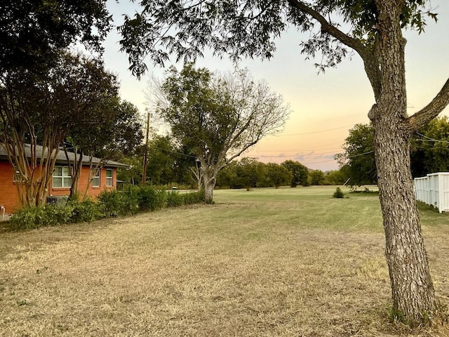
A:
<svg viewBox="0 0 449 337">
<path fill-rule="evenodd" d="M 128 53 L 130 70 L 138 76 L 147 70 L 147 56 L 163 65 L 169 55 L 175 55 L 177 61 L 194 60 L 210 48 L 215 55 L 229 55 L 232 60 L 271 58 L 276 50 L 274 40 L 289 26 L 310 32 L 310 39 L 302 43 L 302 53 L 314 57 L 320 52 L 325 59 L 316 66 L 325 69 L 347 55 L 342 41 L 328 34 L 329 25 L 318 29 L 325 18 L 340 16 L 342 21 L 330 21 L 330 25 L 349 23 L 348 36 L 366 46 L 373 46 L 377 34 L 375 0 L 142 0 L 141 5 L 141 13 L 126 15 L 119 27 L 122 51 Z M 403 1 L 401 26 L 422 32 L 427 15 L 436 19 L 426 5 L 423 0 Z M 312 19 L 312 12 L 319 13 L 321 22 Z"/>
</svg>

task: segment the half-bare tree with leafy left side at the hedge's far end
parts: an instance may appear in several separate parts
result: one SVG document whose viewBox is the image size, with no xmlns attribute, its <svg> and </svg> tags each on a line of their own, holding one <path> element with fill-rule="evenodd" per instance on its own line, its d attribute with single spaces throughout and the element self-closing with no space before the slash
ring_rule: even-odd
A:
<svg viewBox="0 0 449 337">
<path fill-rule="evenodd" d="M 207 203 L 220 170 L 262 137 L 279 132 L 289 112 L 280 95 L 246 70 L 220 76 L 192 63 L 180 72 L 171 67 L 161 93 L 165 99 L 157 112 L 179 143 L 196 153 L 196 178 Z"/>
</svg>

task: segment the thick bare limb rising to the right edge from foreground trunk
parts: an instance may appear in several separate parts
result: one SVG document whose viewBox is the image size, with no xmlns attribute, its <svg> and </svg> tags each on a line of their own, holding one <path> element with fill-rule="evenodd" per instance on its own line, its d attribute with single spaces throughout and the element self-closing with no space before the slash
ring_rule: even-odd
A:
<svg viewBox="0 0 449 337">
<path fill-rule="evenodd" d="M 413 116 L 406 119 L 407 126 L 411 133 L 420 130 L 422 126 L 427 124 L 431 119 L 434 119 L 438 114 L 449 105 L 449 79 L 441 88 L 440 92 L 435 96 L 431 102 L 423 107 L 420 111 L 413 114 Z"/>
</svg>

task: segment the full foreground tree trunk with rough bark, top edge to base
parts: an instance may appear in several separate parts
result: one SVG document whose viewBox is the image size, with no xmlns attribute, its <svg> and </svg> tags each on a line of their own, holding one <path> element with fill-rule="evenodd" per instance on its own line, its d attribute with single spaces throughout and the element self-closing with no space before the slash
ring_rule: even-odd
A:
<svg viewBox="0 0 449 337">
<path fill-rule="evenodd" d="M 399 1 L 401 2 L 401 1 Z M 375 51 L 380 88 L 369 117 L 375 129 L 375 160 L 385 232 L 393 308 L 391 314 L 410 326 L 429 322 L 436 311 L 434 286 L 424 249 L 410 170 L 405 46 L 397 1 L 376 0 L 379 9 Z"/>
</svg>

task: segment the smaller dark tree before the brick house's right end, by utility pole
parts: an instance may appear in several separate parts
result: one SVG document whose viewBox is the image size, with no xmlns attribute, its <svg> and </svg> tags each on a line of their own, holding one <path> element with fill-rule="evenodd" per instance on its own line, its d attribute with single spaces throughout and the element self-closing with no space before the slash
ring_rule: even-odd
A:
<svg viewBox="0 0 449 337">
<path fill-rule="evenodd" d="M 107 93 L 107 88 L 115 85 L 111 83 L 114 77 L 104 70 L 101 70 L 101 73 L 105 76 L 100 77 L 103 81 L 98 79 L 95 82 L 95 92 L 101 93 L 105 90 Z M 88 83 L 89 81 L 86 81 L 86 84 Z M 83 107 L 83 110 L 71 117 L 72 124 L 65 136 L 63 148 L 67 164 L 73 168 L 70 197 L 79 196 L 79 178 L 83 162 L 88 159 L 91 164 L 88 185 L 84 191 L 84 197 L 87 197 L 88 187 L 93 181 L 92 173 L 109 160 L 119 161 L 124 156 L 133 154 L 135 148 L 142 143 L 143 132 L 138 108 L 126 100 L 121 100 L 114 92 L 98 95 L 86 105 L 81 102 L 76 104 Z M 74 152 L 74 158 L 69 157 L 69 151 Z M 100 160 L 94 164 L 93 157 Z"/>
</svg>

